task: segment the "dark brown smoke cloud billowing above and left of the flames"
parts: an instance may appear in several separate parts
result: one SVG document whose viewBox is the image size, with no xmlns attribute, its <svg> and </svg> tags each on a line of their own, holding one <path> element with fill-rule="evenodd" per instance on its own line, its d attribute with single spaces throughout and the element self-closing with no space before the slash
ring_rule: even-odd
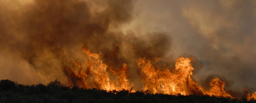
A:
<svg viewBox="0 0 256 103">
<path fill-rule="evenodd" d="M 74 81 L 72 75 L 66 76 L 66 65 L 70 65 L 70 60 L 81 62 L 85 59 L 82 43 L 93 53 L 101 52 L 103 62 L 113 68 L 127 63 L 131 82 L 141 88 L 136 60 L 141 57 L 152 60 L 163 58 L 171 49 L 171 39 L 165 33 L 153 32 L 142 36 L 130 32 L 125 35 L 118 29 L 133 18 L 132 0 L 106 0 L 103 3 L 98 0 L 34 0 L 26 4 L 10 0 L 1 3 L 0 46 L 10 56 L 4 56 L 7 54 L 4 51 L 1 55 L 6 57 L 7 62 L 24 65 L 12 61 L 18 56 L 18 61 L 29 65 L 34 74 L 43 75 L 35 80 L 36 83 L 42 82 L 41 79 L 46 83 L 53 79 L 64 84 L 68 79 Z M 9 65 L 2 64 L 1 71 L 22 68 Z M 27 71 L 21 73 L 32 75 Z M 16 73 L 9 75 L 19 81 Z M 10 78 L 3 76 L 1 79 Z M 20 80 L 28 84 L 35 81 Z"/>
</svg>

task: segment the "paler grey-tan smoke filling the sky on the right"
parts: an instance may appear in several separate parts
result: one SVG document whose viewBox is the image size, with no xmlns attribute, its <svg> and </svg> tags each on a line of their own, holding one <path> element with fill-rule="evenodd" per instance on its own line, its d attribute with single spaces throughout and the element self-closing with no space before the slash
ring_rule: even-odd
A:
<svg viewBox="0 0 256 103">
<path fill-rule="evenodd" d="M 193 74 L 200 86 L 209 75 L 217 75 L 232 83 L 228 90 L 255 87 L 255 1 L 147 0 L 144 4 L 137 2 L 140 14 L 124 30 L 167 32 L 174 57 L 186 53 L 202 64 Z"/>
</svg>

